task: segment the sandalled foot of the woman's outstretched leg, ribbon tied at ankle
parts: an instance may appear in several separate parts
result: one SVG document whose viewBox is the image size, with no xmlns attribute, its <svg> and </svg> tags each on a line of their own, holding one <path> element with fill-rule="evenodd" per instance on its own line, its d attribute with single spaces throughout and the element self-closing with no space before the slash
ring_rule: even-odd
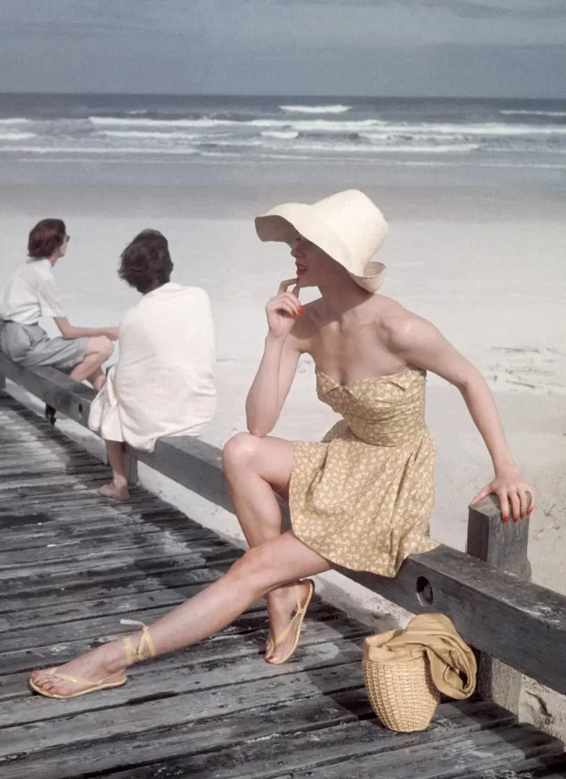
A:
<svg viewBox="0 0 566 779">
<path fill-rule="evenodd" d="M 125 649 L 123 641 L 113 641 L 97 647 L 80 657 L 76 657 L 70 663 L 59 665 L 57 668 L 45 668 L 43 671 L 33 671 L 31 682 L 40 690 L 52 696 L 74 696 L 86 689 L 90 689 L 104 679 L 105 682 L 120 682 L 124 678 L 126 669 Z M 69 682 L 59 679 L 54 675 L 70 676 L 80 679 L 81 682 Z M 90 683 L 89 683 L 90 682 Z"/>
</svg>

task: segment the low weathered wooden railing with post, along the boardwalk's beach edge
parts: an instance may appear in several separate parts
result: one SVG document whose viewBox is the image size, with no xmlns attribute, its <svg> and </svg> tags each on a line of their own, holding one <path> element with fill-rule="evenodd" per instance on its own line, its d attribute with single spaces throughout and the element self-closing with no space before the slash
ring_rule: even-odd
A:
<svg viewBox="0 0 566 779">
<path fill-rule="evenodd" d="M 53 368 L 20 368 L 0 354 L 0 386 L 3 377 L 87 425 L 94 397 L 89 387 Z M 234 512 L 215 446 L 164 438 L 153 453 L 128 449 L 128 457 L 132 479 L 139 460 Z M 288 523 L 287 507 L 283 513 Z M 469 509 L 466 554 L 440 546 L 413 555 L 394 579 L 340 572 L 410 612 L 448 615 L 480 656 L 480 696 L 517 710 L 521 674 L 566 693 L 566 597 L 528 581 L 528 536 L 529 520 L 501 522 L 489 498 Z"/>
</svg>

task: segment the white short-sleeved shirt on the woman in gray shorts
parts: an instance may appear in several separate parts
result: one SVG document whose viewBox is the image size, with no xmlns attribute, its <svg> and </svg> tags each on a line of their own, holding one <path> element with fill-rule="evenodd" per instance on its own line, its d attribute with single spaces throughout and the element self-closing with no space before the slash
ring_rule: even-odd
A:
<svg viewBox="0 0 566 779">
<path fill-rule="evenodd" d="M 0 319 L 34 325 L 41 316 L 62 317 L 65 309 L 48 259 L 28 260 L 19 266 L 0 291 Z"/>
</svg>

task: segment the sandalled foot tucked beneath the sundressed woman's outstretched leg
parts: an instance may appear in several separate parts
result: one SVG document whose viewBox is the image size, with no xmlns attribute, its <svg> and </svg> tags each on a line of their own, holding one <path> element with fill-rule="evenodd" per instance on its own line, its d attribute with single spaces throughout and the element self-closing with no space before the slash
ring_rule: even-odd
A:
<svg viewBox="0 0 566 779">
<path fill-rule="evenodd" d="M 297 600 L 301 605 L 301 611 L 308 608 L 314 591 L 315 586 L 311 580 L 304 580 L 278 587 L 277 590 L 269 593 L 267 610 L 270 630 L 265 647 L 265 660 L 269 663 L 278 664 L 289 659 L 289 653 L 292 654 L 291 650 L 297 642 L 297 631 L 301 631 L 302 619 L 297 615 L 299 608 Z M 295 615 L 297 615 L 296 619 L 294 619 Z M 290 626 L 291 622 L 293 624 Z"/>
</svg>

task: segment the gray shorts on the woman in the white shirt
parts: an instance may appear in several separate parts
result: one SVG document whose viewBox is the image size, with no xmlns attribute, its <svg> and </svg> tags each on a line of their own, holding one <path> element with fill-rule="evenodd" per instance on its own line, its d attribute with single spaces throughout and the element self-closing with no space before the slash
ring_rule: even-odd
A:
<svg viewBox="0 0 566 779">
<path fill-rule="evenodd" d="M 88 338 L 50 338 L 40 325 L 0 320 L 0 349 L 18 365 L 51 365 L 72 371 L 83 362 Z"/>
</svg>

